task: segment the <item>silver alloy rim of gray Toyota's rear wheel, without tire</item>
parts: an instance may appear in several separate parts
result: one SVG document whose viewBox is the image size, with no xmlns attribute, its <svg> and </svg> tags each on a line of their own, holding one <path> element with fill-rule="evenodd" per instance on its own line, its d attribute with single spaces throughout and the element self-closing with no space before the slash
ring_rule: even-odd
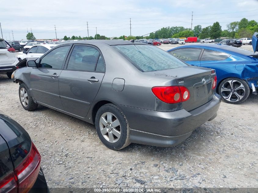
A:
<svg viewBox="0 0 258 193">
<path fill-rule="evenodd" d="M 104 113 L 100 117 L 100 132 L 110 143 L 115 143 L 121 136 L 120 122 L 113 113 Z"/>
</svg>

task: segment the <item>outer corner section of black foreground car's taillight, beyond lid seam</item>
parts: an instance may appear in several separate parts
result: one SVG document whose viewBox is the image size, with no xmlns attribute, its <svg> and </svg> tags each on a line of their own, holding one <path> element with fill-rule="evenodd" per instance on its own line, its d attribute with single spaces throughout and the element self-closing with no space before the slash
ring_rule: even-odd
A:
<svg viewBox="0 0 258 193">
<path fill-rule="evenodd" d="M 33 143 L 26 159 L 15 169 L 19 188 L 31 188 L 35 183 L 40 170 L 40 154 Z"/>
</svg>

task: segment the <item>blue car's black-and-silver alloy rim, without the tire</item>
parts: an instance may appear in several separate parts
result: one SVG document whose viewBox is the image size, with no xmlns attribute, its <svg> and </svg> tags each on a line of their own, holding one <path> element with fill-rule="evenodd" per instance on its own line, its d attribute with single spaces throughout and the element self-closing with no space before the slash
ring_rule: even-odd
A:
<svg viewBox="0 0 258 193">
<path fill-rule="evenodd" d="M 244 85 L 237 80 L 229 80 L 225 82 L 220 91 L 223 98 L 230 102 L 237 102 L 245 95 Z"/>
</svg>

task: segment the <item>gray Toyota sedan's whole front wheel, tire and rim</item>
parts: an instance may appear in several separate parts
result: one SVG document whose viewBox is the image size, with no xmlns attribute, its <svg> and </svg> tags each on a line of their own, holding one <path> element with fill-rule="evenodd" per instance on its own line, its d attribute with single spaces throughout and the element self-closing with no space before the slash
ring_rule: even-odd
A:
<svg viewBox="0 0 258 193">
<path fill-rule="evenodd" d="M 25 92 L 24 92 L 24 90 L 25 90 Z M 23 93 L 23 96 L 21 95 L 22 93 Z M 38 104 L 33 101 L 31 92 L 25 83 L 20 84 L 19 98 L 20 98 L 20 103 L 25 110 L 33 111 L 33 110 L 37 109 Z M 27 98 L 27 100 L 26 100 L 26 98 Z M 22 101 L 22 99 L 23 99 L 23 101 Z"/>
</svg>

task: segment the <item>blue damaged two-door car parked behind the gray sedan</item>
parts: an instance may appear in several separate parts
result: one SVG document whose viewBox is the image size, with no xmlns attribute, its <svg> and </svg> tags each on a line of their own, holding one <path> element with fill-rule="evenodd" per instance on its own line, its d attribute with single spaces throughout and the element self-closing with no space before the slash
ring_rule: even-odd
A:
<svg viewBox="0 0 258 193">
<path fill-rule="evenodd" d="M 258 33 L 252 38 L 253 51 L 220 44 L 191 44 L 168 50 L 187 64 L 216 70 L 217 88 L 223 101 L 244 102 L 258 89 Z"/>
</svg>

